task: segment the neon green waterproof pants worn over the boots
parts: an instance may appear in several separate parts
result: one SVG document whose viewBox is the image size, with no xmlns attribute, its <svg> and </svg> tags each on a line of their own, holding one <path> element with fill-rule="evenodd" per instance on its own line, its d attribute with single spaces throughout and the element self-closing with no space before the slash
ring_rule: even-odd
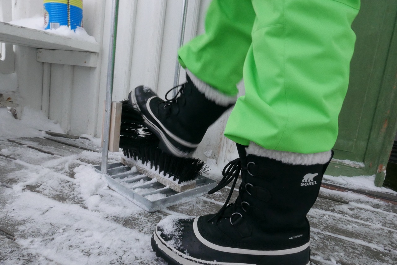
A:
<svg viewBox="0 0 397 265">
<path fill-rule="evenodd" d="M 239 97 L 229 139 L 296 153 L 329 151 L 349 82 L 360 0 L 213 0 L 205 33 L 178 51 L 179 62 Z"/>
</svg>

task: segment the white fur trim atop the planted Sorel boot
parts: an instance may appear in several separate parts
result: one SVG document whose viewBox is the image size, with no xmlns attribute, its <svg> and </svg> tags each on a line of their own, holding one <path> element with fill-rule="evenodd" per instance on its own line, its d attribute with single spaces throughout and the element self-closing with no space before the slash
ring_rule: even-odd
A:
<svg viewBox="0 0 397 265">
<path fill-rule="evenodd" d="M 253 142 L 249 144 L 246 150 L 247 155 L 254 154 L 256 156 L 272 158 L 292 165 L 325 164 L 331 159 L 331 150 L 321 153 L 301 154 L 286 151 L 268 150 Z"/>
</svg>

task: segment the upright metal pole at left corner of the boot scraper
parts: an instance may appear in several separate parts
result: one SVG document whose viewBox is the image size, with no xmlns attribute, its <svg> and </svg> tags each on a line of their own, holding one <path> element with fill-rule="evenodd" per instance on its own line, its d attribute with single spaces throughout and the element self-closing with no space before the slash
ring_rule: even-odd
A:
<svg viewBox="0 0 397 265">
<path fill-rule="evenodd" d="M 116 52 L 116 33 L 118 18 L 119 0 L 112 0 L 112 17 L 110 19 L 110 44 L 108 56 L 108 76 L 106 80 L 106 103 L 105 103 L 105 123 L 102 147 L 102 166 L 101 172 L 108 172 L 108 149 L 110 133 L 110 109 L 112 107 L 113 76 L 114 76 L 114 57 Z"/>
</svg>

